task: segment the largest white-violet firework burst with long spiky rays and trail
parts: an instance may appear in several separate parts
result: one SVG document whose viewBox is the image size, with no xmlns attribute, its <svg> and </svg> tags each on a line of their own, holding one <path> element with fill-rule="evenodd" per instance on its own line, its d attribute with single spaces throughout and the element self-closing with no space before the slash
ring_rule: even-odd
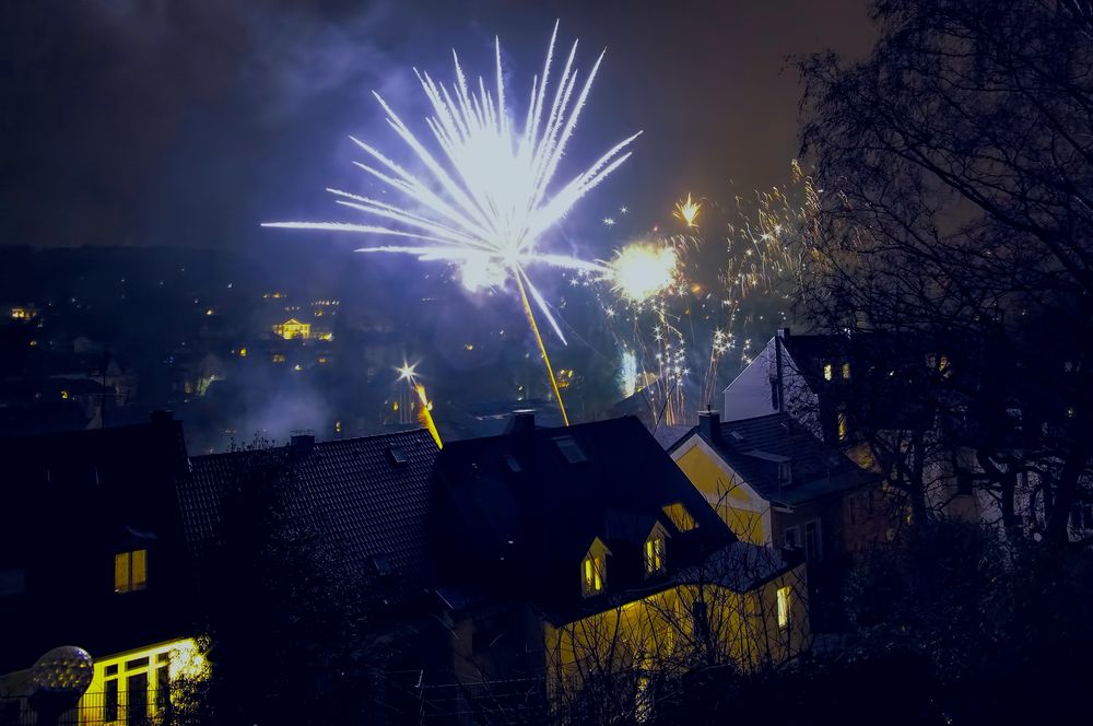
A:
<svg viewBox="0 0 1093 726">
<path fill-rule="evenodd" d="M 536 323 L 532 301 L 563 344 L 565 337 L 546 301 L 528 277 L 527 268 L 545 265 L 610 273 L 600 264 L 541 253 L 537 245 L 542 235 L 581 197 L 630 157 L 631 152 L 625 150 L 640 132 L 615 144 L 565 184 L 559 187 L 553 185 L 566 144 L 603 60 L 601 52 L 578 91 L 578 73 L 574 68 L 575 42 L 553 90 L 553 98 L 549 98 L 556 37 L 557 23 L 551 34 L 542 77 L 537 77 L 531 84 L 522 131 L 517 131 L 509 119 L 500 39 L 494 44 L 496 78 L 489 85 L 481 77 L 477 89 L 469 84 L 455 52 L 456 83 L 450 87 L 435 82 L 428 73 L 414 71 L 432 106 L 433 116 L 426 119 L 426 124 L 440 150 L 439 155 L 426 149 L 387 102 L 373 93 L 387 114 L 388 125 L 428 171 L 428 184 L 376 148 L 353 139 L 373 160 L 372 165 L 360 162 L 356 165 L 400 192 L 416 211 L 341 189 L 328 189 L 338 198 L 339 204 L 377 218 L 383 223 L 278 222 L 263 226 L 389 235 L 413 241 L 414 244 L 364 247 L 357 251 L 408 254 L 423 261 L 439 260 L 456 265 L 463 285 L 472 292 L 514 280 L 543 365 L 546 366 L 562 420 L 568 425 L 546 347 Z M 385 223 L 391 226 L 385 226 Z"/>
</svg>

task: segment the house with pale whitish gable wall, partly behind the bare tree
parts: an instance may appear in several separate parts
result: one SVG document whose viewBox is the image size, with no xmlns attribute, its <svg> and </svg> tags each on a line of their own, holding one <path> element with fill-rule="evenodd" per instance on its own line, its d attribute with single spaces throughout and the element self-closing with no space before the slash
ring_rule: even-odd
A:
<svg viewBox="0 0 1093 726">
<path fill-rule="evenodd" d="M 784 328 L 726 387 L 724 420 L 787 413 L 861 467 L 921 480 L 925 506 L 979 519 L 991 504 L 957 476 L 976 465 L 944 433 L 959 425 L 962 401 L 929 385 L 953 374 L 944 351 L 910 333 L 790 335 Z"/>
</svg>

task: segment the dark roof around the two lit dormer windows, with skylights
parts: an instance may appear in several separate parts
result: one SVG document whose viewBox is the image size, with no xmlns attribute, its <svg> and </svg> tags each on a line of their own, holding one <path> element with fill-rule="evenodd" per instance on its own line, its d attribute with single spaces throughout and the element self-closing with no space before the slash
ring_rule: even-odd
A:
<svg viewBox="0 0 1093 726">
<path fill-rule="evenodd" d="M 662 507 L 677 502 L 697 528 L 675 529 Z M 612 553 L 609 589 L 649 586 L 640 549 L 657 522 L 679 566 L 733 540 L 634 417 L 448 444 L 434 510 L 442 585 L 504 583 L 551 612 L 585 605 L 579 565 L 595 538 Z"/>
</svg>

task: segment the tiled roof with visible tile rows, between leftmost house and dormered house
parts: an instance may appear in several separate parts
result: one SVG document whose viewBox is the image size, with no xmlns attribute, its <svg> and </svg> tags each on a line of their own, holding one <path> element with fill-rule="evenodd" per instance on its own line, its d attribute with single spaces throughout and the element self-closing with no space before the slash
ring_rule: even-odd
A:
<svg viewBox="0 0 1093 726">
<path fill-rule="evenodd" d="M 425 430 L 272 450 L 196 456 L 179 489 L 187 538 L 199 551 L 220 537 L 225 496 L 248 469 L 275 459 L 293 476 L 301 512 L 318 512 L 344 551 L 344 564 L 389 577 L 391 601 L 421 594 L 427 582 L 425 523 L 437 448 Z"/>
</svg>

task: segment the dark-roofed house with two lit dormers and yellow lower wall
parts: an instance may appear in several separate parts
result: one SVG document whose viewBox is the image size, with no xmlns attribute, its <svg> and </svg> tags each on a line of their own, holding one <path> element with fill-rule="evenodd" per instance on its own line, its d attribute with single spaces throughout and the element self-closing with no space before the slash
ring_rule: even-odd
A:
<svg viewBox="0 0 1093 726">
<path fill-rule="evenodd" d="M 738 539 L 634 417 L 447 443 L 430 527 L 451 670 L 546 677 L 557 705 L 656 674 L 781 661 L 807 646 L 803 567 Z M 500 686 L 491 689 L 496 698 Z"/>
</svg>

